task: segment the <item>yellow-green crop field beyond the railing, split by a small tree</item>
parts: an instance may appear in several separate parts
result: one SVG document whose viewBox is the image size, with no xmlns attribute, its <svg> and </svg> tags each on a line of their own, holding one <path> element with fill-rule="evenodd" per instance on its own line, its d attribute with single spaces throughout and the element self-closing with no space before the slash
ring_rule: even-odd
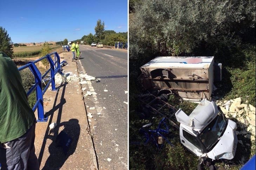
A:
<svg viewBox="0 0 256 170">
<path fill-rule="evenodd" d="M 62 49 L 59 45 L 50 45 L 52 48 L 52 51 L 58 50 L 60 51 Z M 14 58 L 31 58 L 31 57 L 37 57 L 40 55 L 42 46 L 24 46 L 24 47 L 14 47 Z"/>
</svg>

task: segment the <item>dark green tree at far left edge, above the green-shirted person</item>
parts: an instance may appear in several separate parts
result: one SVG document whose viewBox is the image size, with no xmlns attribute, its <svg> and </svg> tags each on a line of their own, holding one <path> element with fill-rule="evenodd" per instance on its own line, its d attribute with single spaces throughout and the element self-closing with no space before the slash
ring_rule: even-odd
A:
<svg viewBox="0 0 256 170">
<path fill-rule="evenodd" d="M 0 27 L 0 51 L 11 58 L 13 57 L 13 42 L 3 27 Z"/>
</svg>

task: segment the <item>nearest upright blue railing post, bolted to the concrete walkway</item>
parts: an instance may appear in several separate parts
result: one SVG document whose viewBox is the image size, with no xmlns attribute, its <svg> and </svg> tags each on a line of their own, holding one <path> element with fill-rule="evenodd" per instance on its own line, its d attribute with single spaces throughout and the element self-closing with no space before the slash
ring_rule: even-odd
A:
<svg viewBox="0 0 256 170">
<path fill-rule="evenodd" d="M 35 76 L 35 83 L 39 82 L 38 86 L 36 86 L 36 101 L 40 100 L 37 107 L 38 122 L 47 122 L 48 117 L 44 117 L 45 112 L 43 110 L 42 75 L 33 62 L 28 63 L 32 64 L 32 66 L 29 67 L 29 69 Z"/>
</svg>

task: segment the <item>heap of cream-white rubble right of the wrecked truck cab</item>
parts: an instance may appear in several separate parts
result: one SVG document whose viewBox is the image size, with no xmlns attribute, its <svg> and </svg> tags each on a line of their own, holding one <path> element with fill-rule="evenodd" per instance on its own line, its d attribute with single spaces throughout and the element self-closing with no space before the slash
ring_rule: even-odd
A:
<svg viewBox="0 0 256 170">
<path fill-rule="evenodd" d="M 256 125 L 255 107 L 251 104 L 249 104 L 249 106 L 248 104 L 241 104 L 241 102 L 241 97 L 238 97 L 229 101 L 218 101 L 216 104 L 220 106 L 226 117 L 233 117 L 237 119 L 237 126 L 240 127 L 240 130 L 236 131 L 237 135 L 244 135 L 254 141 Z M 245 103 L 248 103 L 248 101 Z"/>
</svg>

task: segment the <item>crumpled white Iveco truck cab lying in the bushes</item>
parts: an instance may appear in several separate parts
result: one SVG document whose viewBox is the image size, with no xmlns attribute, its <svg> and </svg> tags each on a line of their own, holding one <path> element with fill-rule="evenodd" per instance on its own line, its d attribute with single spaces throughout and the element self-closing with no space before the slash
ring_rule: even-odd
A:
<svg viewBox="0 0 256 170">
<path fill-rule="evenodd" d="M 175 113 L 180 122 L 181 143 L 193 154 L 210 159 L 233 159 L 236 152 L 237 125 L 227 120 L 213 101 L 203 99 L 188 116 Z"/>
</svg>

